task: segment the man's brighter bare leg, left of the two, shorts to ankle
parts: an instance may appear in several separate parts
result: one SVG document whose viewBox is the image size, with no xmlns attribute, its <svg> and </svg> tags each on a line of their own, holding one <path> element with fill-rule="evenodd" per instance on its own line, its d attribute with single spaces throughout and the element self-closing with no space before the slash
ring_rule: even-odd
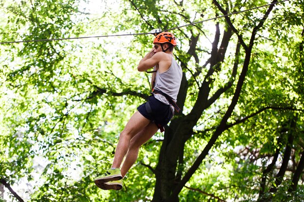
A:
<svg viewBox="0 0 304 202">
<path fill-rule="evenodd" d="M 123 157 L 128 152 L 131 139 L 150 123 L 151 121 L 141 115 L 138 111 L 133 114 L 123 131 L 120 133 L 112 168 L 120 167 Z"/>
</svg>

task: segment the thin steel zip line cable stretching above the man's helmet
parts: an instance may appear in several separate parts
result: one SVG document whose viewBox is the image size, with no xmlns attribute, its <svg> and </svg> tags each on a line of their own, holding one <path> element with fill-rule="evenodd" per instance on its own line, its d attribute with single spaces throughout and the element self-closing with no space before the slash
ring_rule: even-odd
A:
<svg viewBox="0 0 304 202">
<path fill-rule="evenodd" d="M 223 15 L 223 16 L 218 16 L 218 17 L 213 17 L 213 18 L 205 19 L 205 20 L 198 21 L 198 22 L 193 22 L 193 23 L 190 23 L 190 24 L 186 24 L 186 25 L 182 25 L 182 26 L 179 26 L 179 27 L 171 28 L 171 29 L 168 29 L 168 30 L 165 30 L 165 31 L 175 30 L 175 29 L 178 29 L 178 28 L 182 28 L 182 27 L 186 27 L 186 26 L 190 26 L 190 25 L 195 25 L 195 24 L 198 24 L 198 23 L 203 23 L 203 22 L 206 22 L 206 21 L 215 20 L 215 19 L 218 19 L 218 18 L 221 18 L 221 17 L 226 17 L 226 16 L 231 16 L 231 15 L 235 15 L 235 14 L 239 14 L 239 13 L 244 13 L 244 12 L 247 12 L 247 11 L 251 11 L 251 10 L 254 10 L 254 9 L 258 9 L 258 8 L 282 3 L 282 2 L 285 2 L 285 1 L 289 1 L 289 0 L 282 0 L 282 1 L 278 1 L 278 2 L 273 2 L 273 3 L 266 4 L 266 5 L 250 8 L 250 9 L 247 9 L 247 10 L 244 10 L 244 11 L 237 11 L 237 12 L 226 14 L 226 15 Z M 126 33 L 126 34 L 112 34 L 112 35 L 101 35 L 101 36 L 83 36 L 83 37 L 58 38 L 58 39 L 37 39 L 37 40 L 26 40 L 26 41 L 10 41 L 10 42 L 0 42 L 0 45 L 1 44 L 13 44 L 13 43 L 41 42 L 41 41 L 59 41 L 59 40 L 86 39 L 86 38 L 134 36 L 134 35 L 145 35 L 145 34 L 155 34 L 155 33 L 152 33 L 152 32 L 129 33 L 129 34 Z"/>
</svg>

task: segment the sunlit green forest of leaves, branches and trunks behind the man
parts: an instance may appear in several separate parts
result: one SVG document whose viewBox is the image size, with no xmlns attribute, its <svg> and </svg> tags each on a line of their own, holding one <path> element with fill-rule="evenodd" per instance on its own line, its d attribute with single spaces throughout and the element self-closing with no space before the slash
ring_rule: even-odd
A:
<svg viewBox="0 0 304 202">
<path fill-rule="evenodd" d="M 3 0 L 0 42 L 147 33 L 269 2 L 99 3 Z M 0 44 L 0 179 L 33 202 L 303 201 L 304 3 L 270 8 L 171 30 L 182 112 L 143 145 L 119 192 L 93 179 L 149 96 L 136 66 L 153 36 Z"/>
</svg>

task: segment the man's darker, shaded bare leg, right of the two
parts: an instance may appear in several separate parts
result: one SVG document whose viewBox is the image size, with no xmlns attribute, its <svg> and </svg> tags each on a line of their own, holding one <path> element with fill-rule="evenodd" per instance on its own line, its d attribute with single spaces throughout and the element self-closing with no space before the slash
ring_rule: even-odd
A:
<svg viewBox="0 0 304 202">
<path fill-rule="evenodd" d="M 156 124 L 150 123 L 131 139 L 126 158 L 120 170 L 122 178 L 126 175 L 132 165 L 135 163 L 140 146 L 150 140 L 152 136 L 157 132 L 157 130 L 158 127 L 156 126 Z"/>
</svg>

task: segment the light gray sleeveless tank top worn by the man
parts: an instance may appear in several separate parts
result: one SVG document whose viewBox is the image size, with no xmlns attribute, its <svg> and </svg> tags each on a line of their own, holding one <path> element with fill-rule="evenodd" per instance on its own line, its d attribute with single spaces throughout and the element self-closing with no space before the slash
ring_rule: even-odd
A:
<svg viewBox="0 0 304 202">
<path fill-rule="evenodd" d="M 171 55 L 170 55 L 171 56 Z M 181 86 L 183 72 L 181 66 L 171 56 L 172 61 L 166 72 L 159 74 L 156 72 L 154 89 L 170 96 L 176 102 L 177 94 Z M 154 97 L 159 101 L 169 105 L 168 100 L 161 94 L 154 93 Z"/>
</svg>

